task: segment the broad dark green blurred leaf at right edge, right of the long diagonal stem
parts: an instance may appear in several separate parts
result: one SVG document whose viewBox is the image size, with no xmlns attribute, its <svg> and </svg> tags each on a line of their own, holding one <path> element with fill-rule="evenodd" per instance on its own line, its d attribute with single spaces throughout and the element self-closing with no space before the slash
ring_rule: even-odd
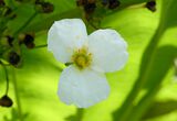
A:
<svg viewBox="0 0 177 121">
<path fill-rule="evenodd" d="M 177 47 L 163 46 L 157 50 L 154 61 L 152 62 L 152 69 L 146 78 L 149 82 L 148 90 L 145 96 L 139 100 L 137 106 L 134 107 L 131 113 L 132 121 L 139 121 L 145 111 L 150 106 L 156 94 L 159 91 L 162 81 L 167 72 L 173 65 L 175 57 L 177 56 Z"/>
</svg>

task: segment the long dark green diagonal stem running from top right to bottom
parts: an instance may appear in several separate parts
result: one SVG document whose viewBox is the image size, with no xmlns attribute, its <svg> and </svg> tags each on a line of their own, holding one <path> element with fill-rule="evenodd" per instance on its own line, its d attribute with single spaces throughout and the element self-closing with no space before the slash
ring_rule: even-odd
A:
<svg viewBox="0 0 177 121">
<path fill-rule="evenodd" d="M 133 87 L 132 91 L 129 92 L 128 97 L 126 98 L 125 102 L 121 107 L 121 109 L 114 112 L 114 119 L 117 119 L 121 121 L 127 121 L 129 118 L 132 119 L 131 116 L 134 112 L 134 108 L 133 108 L 134 105 L 133 103 L 135 102 L 142 88 L 146 85 L 147 81 L 154 81 L 154 80 L 149 80 L 149 76 L 150 76 L 150 73 L 155 70 L 154 62 L 155 62 L 155 58 L 157 55 L 157 46 L 162 40 L 163 34 L 165 33 L 166 29 L 168 28 L 168 26 L 166 26 L 167 22 L 170 22 L 169 19 L 167 19 L 167 18 L 168 18 L 168 10 L 170 9 L 170 7 L 174 7 L 174 4 L 175 4 L 175 3 L 173 4 L 173 2 L 174 1 L 170 0 L 167 8 L 166 9 L 163 8 L 157 31 L 154 34 L 154 36 L 152 37 L 148 46 L 146 47 L 146 50 L 143 54 L 142 64 L 140 64 L 140 68 L 139 68 L 139 76 L 138 76 L 136 82 L 134 84 L 134 87 Z M 163 69 L 166 69 L 166 68 L 163 68 Z M 163 79 L 163 78 L 157 77 L 158 82 L 160 81 L 160 79 Z M 139 112 L 137 112 L 137 113 L 139 113 Z"/>
</svg>

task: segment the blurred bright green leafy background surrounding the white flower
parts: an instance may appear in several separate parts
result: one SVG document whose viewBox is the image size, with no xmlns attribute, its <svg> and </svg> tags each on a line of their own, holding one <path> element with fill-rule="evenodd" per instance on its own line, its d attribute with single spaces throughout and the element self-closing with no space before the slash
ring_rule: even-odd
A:
<svg viewBox="0 0 177 121">
<path fill-rule="evenodd" d="M 35 45 L 46 44 L 53 21 L 84 19 L 75 0 L 49 1 L 54 4 L 54 11 L 38 14 L 23 30 L 35 32 Z M 98 28 L 119 32 L 129 53 L 122 70 L 106 74 L 111 86 L 106 100 L 83 110 L 62 103 L 56 91 L 63 65 L 46 47 L 22 46 L 21 67 L 8 67 L 9 96 L 14 105 L 0 107 L 0 121 L 177 121 L 177 65 L 174 64 L 177 59 L 177 1 L 157 0 L 155 12 L 143 7 L 147 1 L 121 0 L 121 7 L 115 10 L 98 10 L 103 16 Z M 7 2 L 15 6 L 13 0 Z M 8 23 L 11 33 L 29 20 L 34 9 L 25 2 L 17 6 L 15 13 L 17 18 Z M 94 31 L 88 23 L 87 31 Z M 4 72 L 0 66 L 0 96 L 4 90 Z"/>
</svg>

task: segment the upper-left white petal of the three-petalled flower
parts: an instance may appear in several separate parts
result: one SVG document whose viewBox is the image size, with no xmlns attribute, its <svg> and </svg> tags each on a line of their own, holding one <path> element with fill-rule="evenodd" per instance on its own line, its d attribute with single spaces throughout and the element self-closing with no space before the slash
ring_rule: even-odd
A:
<svg viewBox="0 0 177 121">
<path fill-rule="evenodd" d="M 80 19 L 55 21 L 48 33 L 48 50 L 62 62 L 70 62 L 73 50 L 85 44 L 87 33 L 85 24 Z"/>
</svg>

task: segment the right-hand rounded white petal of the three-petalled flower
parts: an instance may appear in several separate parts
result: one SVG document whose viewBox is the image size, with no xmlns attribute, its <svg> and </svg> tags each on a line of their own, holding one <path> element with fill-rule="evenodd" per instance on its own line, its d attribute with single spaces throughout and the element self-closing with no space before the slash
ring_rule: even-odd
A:
<svg viewBox="0 0 177 121">
<path fill-rule="evenodd" d="M 128 58 L 127 44 L 114 30 L 97 30 L 88 36 L 88 51 L 93 54 L 93 68 L 115 72 L 124 67 Z"/>
</svg>

